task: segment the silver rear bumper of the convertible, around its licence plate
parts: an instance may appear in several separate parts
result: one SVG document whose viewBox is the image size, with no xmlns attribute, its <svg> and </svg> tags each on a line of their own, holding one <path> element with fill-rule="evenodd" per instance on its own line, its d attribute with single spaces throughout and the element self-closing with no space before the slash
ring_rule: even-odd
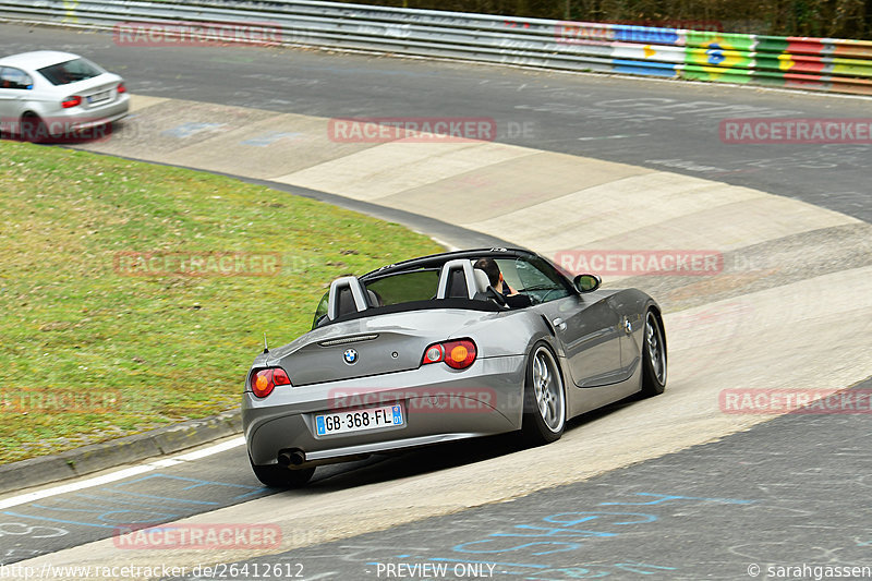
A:
<svg viewBox="0 0 872 581">
<path fill-rule="evenodd" d="M 522 355 L 481 359 L 463 371 L 425 365 L 354 380 L 281 386 L 265 399 L 245 392 L 242 422 L 255 464 L 276 463 L 282 450 L 305 461 L 401 450 L 521 427 L 525 364 Z M 318 436 L 315 416 L 400 404 L 404 424 Z M 304 464 L 305 465 L 305 464 Z"/>
</svg>

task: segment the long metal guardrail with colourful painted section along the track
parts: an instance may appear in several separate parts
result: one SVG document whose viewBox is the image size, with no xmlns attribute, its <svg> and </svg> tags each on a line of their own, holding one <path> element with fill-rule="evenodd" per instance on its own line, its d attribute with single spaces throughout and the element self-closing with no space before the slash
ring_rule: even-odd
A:
<svg viewBox="0 0 872 581">
<path fill-rule="evenodd" d="M 0 20 L 872 95 L 872 43 L 514 19 L 310 0 L 0 0 Z"/>
</svg>

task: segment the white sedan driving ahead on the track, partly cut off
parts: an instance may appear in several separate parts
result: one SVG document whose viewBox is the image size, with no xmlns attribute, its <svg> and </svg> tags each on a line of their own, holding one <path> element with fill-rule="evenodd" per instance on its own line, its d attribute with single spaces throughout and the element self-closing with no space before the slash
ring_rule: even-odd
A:
<svg viewBox="0 0 872 581">
<path fill-rule="evenodd" d="M 0 132 L 33 142 L 104 130 L 128 114 L 124 80 L 71 52 L 0 58 Z"/>
</svg>

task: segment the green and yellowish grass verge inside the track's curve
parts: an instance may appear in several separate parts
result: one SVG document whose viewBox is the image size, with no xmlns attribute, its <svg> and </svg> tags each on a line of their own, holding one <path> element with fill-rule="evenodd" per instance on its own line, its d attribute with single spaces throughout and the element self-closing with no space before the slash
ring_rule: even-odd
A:
<svg viewBox="0 0 872 581">
<path fill-rule="evenodd" d="M 440 250 L 209 173 L 14 142 L 0 167 L 2 463 L 233 409 L 330 280 Z"/>
</svg>

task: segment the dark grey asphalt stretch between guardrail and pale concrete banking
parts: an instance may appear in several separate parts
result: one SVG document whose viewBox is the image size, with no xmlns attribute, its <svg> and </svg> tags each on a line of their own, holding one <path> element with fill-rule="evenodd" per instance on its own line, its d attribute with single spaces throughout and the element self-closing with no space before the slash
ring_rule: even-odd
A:
<svg viewBox="0 0 872 581">
<path fill-rule="evenodd" d="M 85 52 L 132 93 L 316 117 L 489 117 L 506 143 L 666 169 L 872 219 L 869 147 L 727 145 L 722 119 L 869 117 L 869 100 L 280 49 L 117 46 L 0 27 L 5 52 Z M 509 123 L 511 122 L 511 126 Z M 517 135 L 516 135 L 517 134 Z"/>
</svg>

